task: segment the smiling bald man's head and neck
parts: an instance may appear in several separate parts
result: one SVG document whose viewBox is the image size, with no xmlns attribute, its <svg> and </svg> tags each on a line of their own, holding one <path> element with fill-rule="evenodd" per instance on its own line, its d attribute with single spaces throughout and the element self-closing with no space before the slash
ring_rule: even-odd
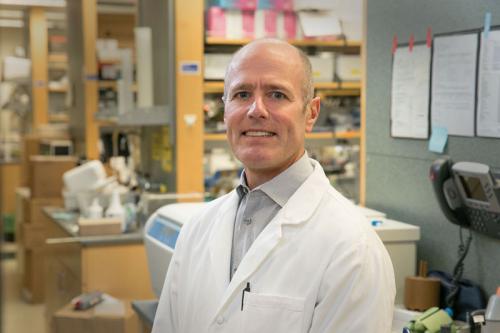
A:
<svg viewBox="0 0 500 333">
<path fill-rule="evenodd" d="M 226 71 L 227 136 L 253 188 L 278 175 L 304 153 L 304 136 L 318 118 L 307 56 L 279 40 L 241 48 Z"/>
</svg>

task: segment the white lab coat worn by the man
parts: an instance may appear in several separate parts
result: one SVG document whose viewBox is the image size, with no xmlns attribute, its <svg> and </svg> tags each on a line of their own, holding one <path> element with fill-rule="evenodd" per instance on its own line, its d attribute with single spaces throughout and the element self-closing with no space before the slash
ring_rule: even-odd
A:
<svg viewBox="0 0 500 333">
<path fill-rule="evenodd" d="M 313 173 L 257 237 L 231 281 L 235 191 L 182 228 L 153 333 L 390 332 L 396 289 L 389 255 L 311 161 Z"/>
</svg>

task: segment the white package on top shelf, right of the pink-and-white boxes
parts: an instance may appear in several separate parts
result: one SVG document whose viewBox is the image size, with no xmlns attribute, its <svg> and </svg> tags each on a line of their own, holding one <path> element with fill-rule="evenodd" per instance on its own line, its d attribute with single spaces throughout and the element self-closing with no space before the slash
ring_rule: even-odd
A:
<svg viewBox="0 0 500 333">
<path fill-rule="evenodd" d="M 342 34 L 340 21 L 332 11 L 299 12 L 304 36 L 335 36 Z"/>
</svg>

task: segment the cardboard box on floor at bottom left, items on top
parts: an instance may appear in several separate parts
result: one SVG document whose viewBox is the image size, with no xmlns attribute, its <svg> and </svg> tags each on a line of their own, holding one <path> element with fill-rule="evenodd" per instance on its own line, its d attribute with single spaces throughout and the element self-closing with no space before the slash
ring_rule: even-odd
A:
<svg viewBox="0 0 500 333">
<path fill-rule="evenodd" d="M 124 304 L 125 311 L 121 315 L 99 314 L 96 307 L 75 311 L 67 304 L 54 314 L 54 333 L 139 333 L 137 314 L 130 302 L 124 301 Z"/>
</svg>

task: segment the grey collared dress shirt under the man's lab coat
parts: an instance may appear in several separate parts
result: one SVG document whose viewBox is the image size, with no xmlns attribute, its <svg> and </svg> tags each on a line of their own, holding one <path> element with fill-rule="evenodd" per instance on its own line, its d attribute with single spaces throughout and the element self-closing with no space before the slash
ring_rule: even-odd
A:
<svg viewBox="0 0 500 333">
<path fill-rule="evenodd" d="M 253 190 L 247 186 L 245 172 L 241 174 L 236 188 L 240 201 L 234 221 L 230 279 L 257 236 L 312 172 L 305 152 L 288 169 Z"/>
</svg>

